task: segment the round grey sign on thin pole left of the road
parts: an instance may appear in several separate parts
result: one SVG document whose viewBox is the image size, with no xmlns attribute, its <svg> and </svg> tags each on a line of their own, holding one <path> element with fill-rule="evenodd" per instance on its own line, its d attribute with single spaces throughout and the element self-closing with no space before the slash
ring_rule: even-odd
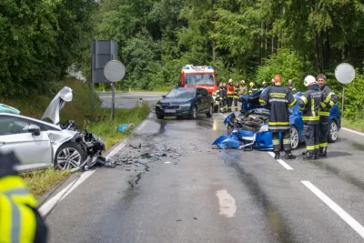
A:
<svg viewBox="0 0 364 243">
<path fill-rule="evenodd" d="M 115 116 L 115 83 L 123 79 L 126 73 L 125 66 L 117 60 L 111 60 L 106 63 L 104 67 L 104 75 L 106 79 L 112 84 L 111 92 L 111 120 Z"/>
</svg>

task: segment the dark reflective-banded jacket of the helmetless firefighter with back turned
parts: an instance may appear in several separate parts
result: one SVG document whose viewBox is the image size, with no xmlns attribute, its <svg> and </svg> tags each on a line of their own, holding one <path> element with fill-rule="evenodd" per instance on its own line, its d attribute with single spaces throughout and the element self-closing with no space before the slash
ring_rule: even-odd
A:
<svg viewBox="0 0 364 243">
<path fill-rule="evenodd" d="M 268 129 L 272 132 L 285 132 L 289 129 L 288 106 L 296 104 L 296 99 L 285 86 L 272 86 L 259 97 L 262 106 L 269 106 Z"/>
</svg>

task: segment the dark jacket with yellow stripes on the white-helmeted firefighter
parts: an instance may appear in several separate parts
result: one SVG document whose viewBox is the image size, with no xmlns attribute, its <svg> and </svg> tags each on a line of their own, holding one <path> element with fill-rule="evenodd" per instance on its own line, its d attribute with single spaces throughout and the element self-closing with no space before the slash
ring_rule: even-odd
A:
<svg viewBox="0 0 364 243">
<path fill-rule="evenodd" d="M 319 124 L 319 106 L 323 102 L 318 85 L 308 86 L 308 90 L 299 97 L 299 109 L 303 112 L 302 120 L 307 124 Z"/>
</svg>

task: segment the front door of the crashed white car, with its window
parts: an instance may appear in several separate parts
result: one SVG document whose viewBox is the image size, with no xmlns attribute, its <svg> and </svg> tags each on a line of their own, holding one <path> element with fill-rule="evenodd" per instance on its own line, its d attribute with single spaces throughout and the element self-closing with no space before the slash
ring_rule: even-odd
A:
<svg viewBox="0 0 364 243">
<path fill-rule="evenodd" d="M 40 133 L 29 132 L 30 125 L 39 127 Z M 52 145 L 45 127 L 25 117 L 0 115 L 0 151 L 14 151 L 21 165 L 53 163 Z"/>
</svg>

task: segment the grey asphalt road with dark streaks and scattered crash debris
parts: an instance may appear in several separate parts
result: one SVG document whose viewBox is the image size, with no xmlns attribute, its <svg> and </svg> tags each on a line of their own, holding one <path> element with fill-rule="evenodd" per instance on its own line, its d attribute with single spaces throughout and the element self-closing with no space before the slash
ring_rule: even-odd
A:
<svg viewBox="0 0 364 243">
<path fill-rule="evenodd" d="M 154 108 L 160 94 L 117 94 L 116 106 L 141 96 Z M 149 116 L 113 157 L 122 166 L 56 205 L 49 242 L 364 242 L 364 136 L 341 130 L 328 158 L 303 161 L 302 146 L 277 161 L 211 149 L 223 119 Z"/>
</svg>

